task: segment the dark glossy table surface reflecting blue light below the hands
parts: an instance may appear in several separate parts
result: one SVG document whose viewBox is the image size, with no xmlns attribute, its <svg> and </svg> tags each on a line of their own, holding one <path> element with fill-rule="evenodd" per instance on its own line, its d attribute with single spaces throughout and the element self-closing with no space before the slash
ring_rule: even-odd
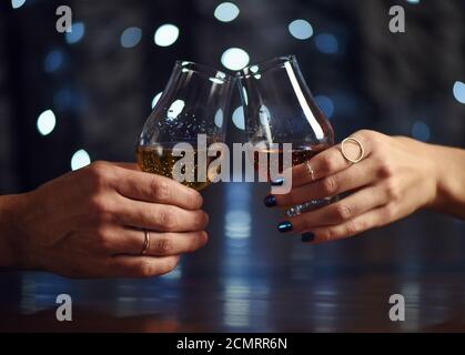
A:
<svg viewBox="0 0 465 355">
<path fill-rule="evenodd" d="M 361 237 L 304 245 L 275 232 L 264 184 L 205 191 L 210 243 L 150 280 L 0 273 L 0 332 L 465 331 L 465 223 L 421 212 Z M 58 322 L 57 295 L 73 301 Z M 392 322 L 392 294 L 405 321 Z"/>
</svg>

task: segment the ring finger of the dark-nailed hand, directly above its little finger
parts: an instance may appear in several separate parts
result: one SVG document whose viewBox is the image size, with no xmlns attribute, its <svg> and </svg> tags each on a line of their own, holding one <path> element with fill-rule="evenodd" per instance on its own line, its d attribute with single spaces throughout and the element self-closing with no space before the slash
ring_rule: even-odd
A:
<svg viewBox="0 0 465 355">
<path fill-rule="evenodd" d="M 290 219 L 292 231 L 303 233 L 314 227 L 345 223 L 388 202 L 380 186 L 360 190 L 333 204 Z"/>
</svg>

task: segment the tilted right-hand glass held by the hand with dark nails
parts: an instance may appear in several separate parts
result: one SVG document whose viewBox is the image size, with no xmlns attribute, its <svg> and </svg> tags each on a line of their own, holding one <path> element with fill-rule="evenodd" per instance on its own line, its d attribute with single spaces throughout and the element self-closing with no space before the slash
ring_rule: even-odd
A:
<svg viewBox="0 0 465 355">
<path fill-rule="evenodd" d="M 292 143 L 292 165 L 297 165 L 334 144 L 333 129 L 316 106 L 294 55 L 243 69 L 240 88 L 249 141 L 260 146 L 255 160 L 260 154 L 277 154 L 282 165 L 282 143 Z M 331 197 L 314 200 L 284 213 L 293 216 L 328 202 Z"/>
</svg>

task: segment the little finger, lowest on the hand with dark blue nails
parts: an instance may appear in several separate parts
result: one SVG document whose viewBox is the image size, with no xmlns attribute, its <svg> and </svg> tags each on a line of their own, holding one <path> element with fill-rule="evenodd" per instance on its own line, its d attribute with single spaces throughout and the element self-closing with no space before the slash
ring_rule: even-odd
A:
<svg viewBox="0 0 465 355">
<path fill-rule="evenodd" d="M 312 243 L 324 243 L 346 239 L 367 230 L 385 225 L 392 222 L 392 220 L 390 205 L 384 205 L 337 225 L 312 229 L 311 233 L 314 236 Z"/>
</svg>

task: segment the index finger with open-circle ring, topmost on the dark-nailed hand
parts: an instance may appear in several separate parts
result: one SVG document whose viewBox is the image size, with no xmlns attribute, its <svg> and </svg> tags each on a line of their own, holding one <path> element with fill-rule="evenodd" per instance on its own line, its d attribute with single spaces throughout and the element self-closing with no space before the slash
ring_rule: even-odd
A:
<svg viewBox="0 0 465 355">
<path fill-rule="evenodd" d="M 356 132 L 351 136 L 357 139 L 364 148 L 364 158 L 372 152 L 371 140 L 362 132 Z M 350 156 L 360 154 L 360 146 L 353 142 L 347 142 L 344 148 Z M 309 165 L 313 174 L 309 171 Z M 313 156 L 307 163 L 296 165 L 292 169 L 292 185 L 294 187 L 307 184 L 309 182 L 335 174 L 353 165 L 341 152 L 341 144 L 336 144 Z"/>
</svg>

